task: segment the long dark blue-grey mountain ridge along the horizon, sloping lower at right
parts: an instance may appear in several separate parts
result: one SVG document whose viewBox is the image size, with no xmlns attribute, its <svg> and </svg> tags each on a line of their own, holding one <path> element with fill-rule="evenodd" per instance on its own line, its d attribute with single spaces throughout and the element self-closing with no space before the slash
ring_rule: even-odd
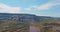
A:
<svg viewBox="0 0 60 32">
<path fill-rule="evenodd" d="M 60 18 L 49 17 L 49 16 L 36 16 L 33 14 L 11 14 L 11 13 L 0 13 L 0 21 L 31 21 L 38 22 L 44 19 L 49 20 L 60 20 Z"/>
</svg>

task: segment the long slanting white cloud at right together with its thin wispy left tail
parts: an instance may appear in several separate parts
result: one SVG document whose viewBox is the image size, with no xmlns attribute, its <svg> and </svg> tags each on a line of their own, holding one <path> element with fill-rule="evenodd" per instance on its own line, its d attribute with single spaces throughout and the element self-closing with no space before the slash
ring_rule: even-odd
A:
<svg viewBox="0 0 60 32">
<path fill-rule="evenodd" d="M 45 4 L 42 5 L 34 5 L 34 6 L 30 6 L 28 8 L 26 8 L 26 10 L 31 11 L 32 8 L 34 8 L 35 10 L 49 10 L 54 6 L 60 5 L 60 0 L 51 0 L 50 2 L 47 2 Z"/>
</svg>

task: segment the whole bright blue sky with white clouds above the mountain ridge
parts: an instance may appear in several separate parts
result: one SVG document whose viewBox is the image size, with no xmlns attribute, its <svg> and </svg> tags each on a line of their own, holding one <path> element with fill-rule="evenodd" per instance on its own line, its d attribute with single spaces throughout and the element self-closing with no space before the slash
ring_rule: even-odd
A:
<svg viewBox="0 0 60 32">
<path fill-rule="evenodd" d="M 0 13 L 60 17 L 60 0 L 0 0 Z"/>
</svg>

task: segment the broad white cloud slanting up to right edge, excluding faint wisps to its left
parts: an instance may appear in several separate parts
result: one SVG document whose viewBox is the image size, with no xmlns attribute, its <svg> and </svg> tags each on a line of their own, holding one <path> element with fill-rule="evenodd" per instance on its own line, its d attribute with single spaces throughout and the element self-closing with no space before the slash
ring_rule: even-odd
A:
<svg viewBox="0 0 60 32">
<path fill-rule="evenodd" d="M 48 10 L 51 9 L 53 6 L 60 5 L 60 0 L 51 0 L 43 5 L 36 7 L 37 10 Z"/>
</svg>

